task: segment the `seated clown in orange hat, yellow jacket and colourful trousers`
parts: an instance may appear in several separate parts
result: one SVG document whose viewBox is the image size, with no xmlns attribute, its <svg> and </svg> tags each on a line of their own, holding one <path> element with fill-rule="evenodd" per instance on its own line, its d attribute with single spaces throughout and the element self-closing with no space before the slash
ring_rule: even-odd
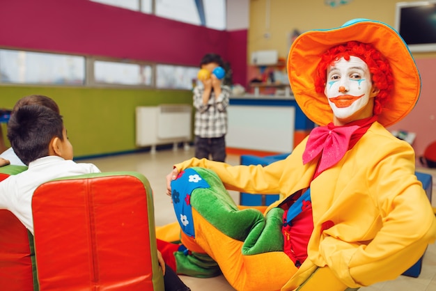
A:
<svg viewBox="0 0 436 291">
<path fill-rule="evenodd" d="M 189 274 L 182 261 L 202 254 L 236 290 L 295 290 L 316 269 L 331 278 L 322 290 L 396 278 L 436 238 L 414 151 L 385 129 L 418 100 L 412 55 L 387 24 L 354 19 L 299 36 L 288 72 L 299 107 L 320 126 L 286 159 L 194 158 L 167 176 L 187 248 L 185 259 L 174 253 L 178 271 Z M 283 198 L 264 212 L 239 210 L 226 189 Z"/>
</svg>

